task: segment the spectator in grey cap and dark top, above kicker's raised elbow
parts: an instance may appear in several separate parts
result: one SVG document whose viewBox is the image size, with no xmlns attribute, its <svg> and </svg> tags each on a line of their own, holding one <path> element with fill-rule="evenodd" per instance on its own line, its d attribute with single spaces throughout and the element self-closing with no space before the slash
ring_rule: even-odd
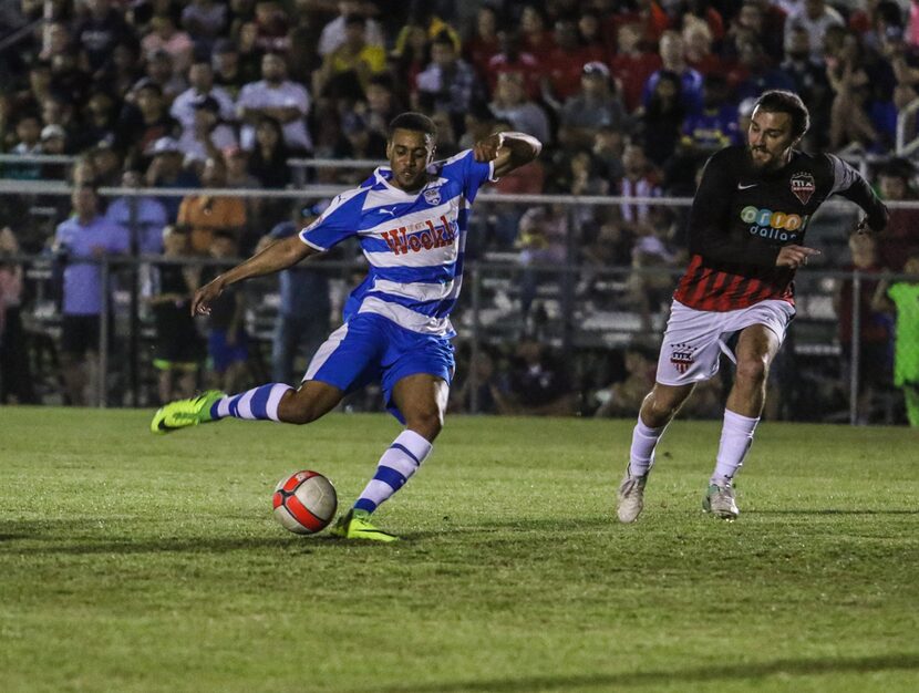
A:
<svg viewBox="0 0 919 693">
<path fill-rule="evenodd" d="M 580 91 L 565 102 L 559 114 L 559 139 L 590 147 L 600 127 L 628 130 L 622 101 L 610 89 L 609 68 L 589 62 L 581 69 Z"/>
</svg>

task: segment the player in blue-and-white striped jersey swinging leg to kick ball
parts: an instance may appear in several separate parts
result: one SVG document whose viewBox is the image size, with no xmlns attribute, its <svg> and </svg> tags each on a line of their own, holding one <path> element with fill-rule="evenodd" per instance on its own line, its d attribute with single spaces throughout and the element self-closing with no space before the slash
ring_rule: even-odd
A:
<svg viewBox="0 0 919 693">
<path fill-rule="evenodd" d="M 450 312 L 463 280 L 469 211 L 479 187 L 535 159 L 541 144 L 500 133 L 434 162 L 436 126 L 420 113 L 390 124 L 386 156 L 360 186 L 339 195 L 299 235 L 287 238 L 202 287 L 193 314 L 238 281 L 275 272 L 358 237 L 370 266 L 344 307 L 344 324 L 317 350 L 298 389 L 269 383 L 237 395 L 207 392 L 162 407 L 154 433 L 226 416 L 306 424 L 370 382 L 405 430 L 383 453 L 354 506 L 332 529 L 349 539 L 393 541 L 371 514 L 417 470 L 443 427 L 454 359 Z"/>
</svg>

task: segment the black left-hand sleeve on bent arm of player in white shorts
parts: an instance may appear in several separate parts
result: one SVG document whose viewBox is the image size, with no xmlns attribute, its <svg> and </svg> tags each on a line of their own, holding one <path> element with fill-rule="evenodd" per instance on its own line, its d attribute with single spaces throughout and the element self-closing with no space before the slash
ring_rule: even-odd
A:
<svg viewBox="0 0 919 693">
<path fill-rule="evenodd" d="M 777 247 L 734 230 L 731 197 L 735 185 L 736 176 L 725 157 L 712 156 L 690 210 L 690 252 L 714 262 L 773 267 Z"/>
</svg>

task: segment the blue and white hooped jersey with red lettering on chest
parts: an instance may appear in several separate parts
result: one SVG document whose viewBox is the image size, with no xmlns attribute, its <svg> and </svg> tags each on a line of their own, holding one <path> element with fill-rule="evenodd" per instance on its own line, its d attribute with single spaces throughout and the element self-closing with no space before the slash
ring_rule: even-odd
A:
<svg viewBox="0 0 919 693">
<path fill-rule="evenodd" d="M 467 149 L 427 172 L 427 185 L 405 193 L 390 184 L 390 167 L 381 166 L 300 231 L 318 250 L 360 239 L 370 272 L 351 292 L 345 321 L 371 312 L 414 332 L 455 334 L 450 312 L 463 282 L 471 206 L 478 188 L 493 179 L 494 164 L 476 162 Z"/>
</svg>

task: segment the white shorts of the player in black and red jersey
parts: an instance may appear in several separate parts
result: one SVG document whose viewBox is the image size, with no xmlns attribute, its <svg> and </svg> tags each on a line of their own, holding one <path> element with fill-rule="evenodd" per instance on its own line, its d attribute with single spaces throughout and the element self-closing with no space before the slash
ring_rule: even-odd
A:
<svg viewBox="0 0 919 693">
<path fill-rule="evenodd" d="M 673 301 L 658 359 L 657 381 L 662 385 L 689 385 L 708 380 L 717 373 L 721 352 L 736 363 L 724 343 L 732 334 L 762 324 L 775 332 L 782 344 L 794 317 L 794 306 L 778 300 L 724 312 L 695 310 Z"/>
</svg>

